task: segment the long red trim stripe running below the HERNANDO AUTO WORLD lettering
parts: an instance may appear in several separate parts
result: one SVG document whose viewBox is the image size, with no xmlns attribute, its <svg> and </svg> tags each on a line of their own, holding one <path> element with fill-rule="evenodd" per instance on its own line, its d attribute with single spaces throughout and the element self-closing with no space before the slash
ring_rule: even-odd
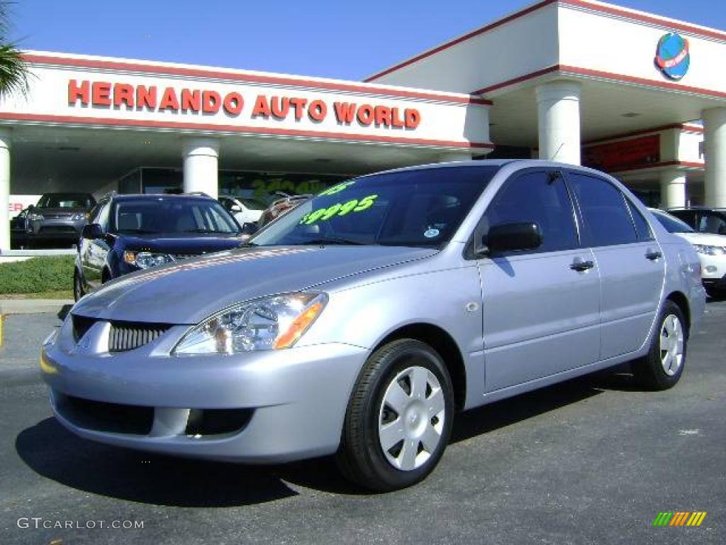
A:
<svg viewBox="0 0 726 545">
<path fill-rule="evenodd" d="M 177 129 L 213 132 L 238 132 L 262 134 L 265 136 L 287 136 L 322 138 L 330 140 L 355 140 L 359 142 L 381 142 L 404 145 L 430 145 L 441 148 L 494 149 L 491 142 L 455 142 L 453 140 L 428 140 L 426 138 L 396 138 L 378 134 L 347 134 L 343 132 L 314 132 L 300 129 L 280 129 L 276 127 L 256 127 L 240 125 L 215 125 L 203 123 L 184 123 L 173 121 L 143 121 L 136 119 L 109 119 L 81 116 L 50 116 L 34 113 L 0 112 L 0 121 L 32 121 L 58 124 L 83 124 L 102 126 L 130 126 L 139 129 Z"/>
</svg>

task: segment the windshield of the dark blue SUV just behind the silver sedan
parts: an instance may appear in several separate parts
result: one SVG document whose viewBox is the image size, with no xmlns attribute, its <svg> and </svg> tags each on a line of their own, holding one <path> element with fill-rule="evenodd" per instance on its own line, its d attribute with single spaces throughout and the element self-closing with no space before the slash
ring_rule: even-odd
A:
<svg viewBox="0 0 726 545">
<path fill-rule="evenodd" d="M 158 197 L 123 199 L 111 212 L 111 233 L 239 233 L 217 201 Z"/>
</svg>

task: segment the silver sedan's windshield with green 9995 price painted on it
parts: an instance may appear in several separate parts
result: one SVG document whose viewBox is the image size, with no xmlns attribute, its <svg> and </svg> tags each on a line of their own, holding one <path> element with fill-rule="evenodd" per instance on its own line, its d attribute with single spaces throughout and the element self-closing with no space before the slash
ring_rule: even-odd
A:
<svg viewBox="0 0 726 545">
<path fill-rule="evenodd" d="M 498 168 L 458 166 L 351 179 L 280 217 L 251 243 L 439 246 L 452 238 Z"/>
</svg>

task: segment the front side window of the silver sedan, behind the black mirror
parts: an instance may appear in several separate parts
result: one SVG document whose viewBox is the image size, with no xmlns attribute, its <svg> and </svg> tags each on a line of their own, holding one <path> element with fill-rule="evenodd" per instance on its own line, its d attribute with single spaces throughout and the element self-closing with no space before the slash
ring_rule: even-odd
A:
<svg viewBox="0 0 726 545">
<path fill-rule="evenodd" d="M 562 177 L 550 179 L 546 171 L 515 174 L 499 190 L 484 212 L 477 236 L 505 223 L 534 222 L 542 231 L 537 251 L 568 250 L 579 246 L 574 212 Z"/>
</svg>

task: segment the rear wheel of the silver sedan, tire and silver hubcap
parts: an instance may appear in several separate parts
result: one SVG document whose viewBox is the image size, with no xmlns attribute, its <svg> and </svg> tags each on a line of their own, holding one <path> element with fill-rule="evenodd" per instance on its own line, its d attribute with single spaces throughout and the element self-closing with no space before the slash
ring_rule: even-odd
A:
<svg viewBox="0 0 726 545">
<path fill-rule="evenodd" d="M 674 387 L 685 368 L 688 326 L 680 307 L 666 300 L 658 315 L 658 326 L 650 350 L 633 365 L 635 378 L 650 390 Z"/>
</svg>

